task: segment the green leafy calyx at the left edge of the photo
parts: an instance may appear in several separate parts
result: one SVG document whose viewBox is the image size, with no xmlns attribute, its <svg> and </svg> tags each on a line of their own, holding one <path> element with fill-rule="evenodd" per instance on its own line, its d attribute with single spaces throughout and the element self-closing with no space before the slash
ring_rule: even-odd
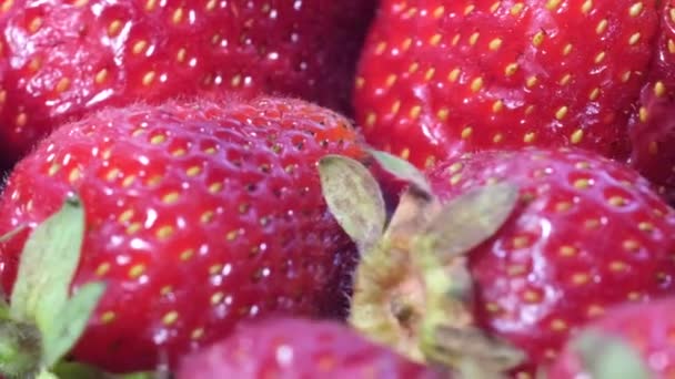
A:
<svg viewBox="0 0 675 379">
<path fill-rule="evenodd" d="M 24 244 L 9 301 L 0 304 L 0 373 L 51 378 L 84 331 L 105 286 L 70 295 L 84 236 L 84 209 L 69 197 Z M 9 235 L 7 238 L 11 238 Z"/>
</svg>

